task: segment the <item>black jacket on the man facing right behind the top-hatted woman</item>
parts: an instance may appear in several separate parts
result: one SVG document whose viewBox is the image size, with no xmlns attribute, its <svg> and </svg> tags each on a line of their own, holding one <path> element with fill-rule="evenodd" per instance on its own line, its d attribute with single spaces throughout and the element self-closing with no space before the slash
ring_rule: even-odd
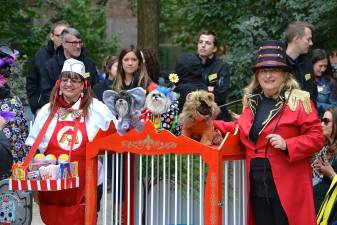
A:
<svg viewBox="0 0 337 225">
<path fill-rule="evenodd" d="M 317 85 L 314 78 L 314 71 L 311 60 L 306 55 L 300 55 L 293 60 L 286 55 L 287 65 L 292 69 L 292 74 L 296 81 L 300 84 L 302 90 L 310 93 L 310 98 L 316 104 Z"/>
</svg>

